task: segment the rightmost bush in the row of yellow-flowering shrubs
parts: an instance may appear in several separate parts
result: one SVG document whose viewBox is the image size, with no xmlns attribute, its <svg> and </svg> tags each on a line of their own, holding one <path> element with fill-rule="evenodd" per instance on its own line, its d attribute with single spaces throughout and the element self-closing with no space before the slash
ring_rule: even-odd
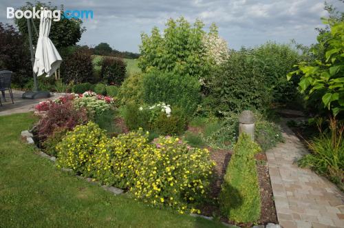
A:
<svg viewBox="0 0 344 228">
<path fill-rule="evenodd" d="M 171 136 L 156 139 L 152 149 L 138 164 L 130 191 L 152 205 L 200 212 L 194 207 L 206 198 L 215 166 L 208 150 L 191 148 Z"/>
</svg>

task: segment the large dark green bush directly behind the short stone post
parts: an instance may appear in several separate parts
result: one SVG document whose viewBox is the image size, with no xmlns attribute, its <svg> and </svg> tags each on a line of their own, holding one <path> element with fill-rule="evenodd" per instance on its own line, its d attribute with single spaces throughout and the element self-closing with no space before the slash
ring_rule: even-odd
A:
<svg viewBox="0 0 344 228">
<path fill-rule="evenodd" d="M 248 50 L 231 51 L 230 58 L 211 79 L 213 112 L 266 110 L 272 101 L 272 88 L 266 87 L 262 68 Z"/>
</svg>

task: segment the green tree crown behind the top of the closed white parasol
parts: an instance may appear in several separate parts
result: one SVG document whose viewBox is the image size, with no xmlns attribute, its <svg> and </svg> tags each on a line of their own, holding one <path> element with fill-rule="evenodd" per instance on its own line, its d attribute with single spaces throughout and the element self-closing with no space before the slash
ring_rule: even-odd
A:
<svg viewBox="0 0 344 228">
<path fill-rule="evenodd" d="M 36 10 L 40 9 L 41 7 L 47 8 L 49 10 L 58 10 L 57 6 L 52 6 L 51 3 L 47 4 L 40 1 L 35 1 L 34 4 L 27 2 L 25 6 L 22 6 L 19 9 L 23 11 L 32 11 L 33 7 L 36 7 Z M 63 5 L 61 5 L 61 15 L 63 13 Z M 40 19 L 32 19 L 32 21 L 34 22 L 34 25 L 38 30 Z M 22 17 L 21 19 L 14 19 L 14 23 L 16 23 L 16 25 L 18 26 L 21 34 L 23 34 L 24 37 L 28 37 L 28 23 L 25 17 Z M 65 19 L 63 17 L 61 17 L 60 21 L 53 21 L 50 28 L 49 37 L 58 50 L 60 50 L 60 48 L 76 45 L 76 43 L 80 41 L 81 34 L 86 31 L 85 27 L 82 27 L 82 23 L 83 21 L 81 21 L 80 19 Z M 32 32 L 32 39 L 35 45 L 35 43 L 37 43 L 38 37 L 35 35 L 33 28 Z"/>
</svg>

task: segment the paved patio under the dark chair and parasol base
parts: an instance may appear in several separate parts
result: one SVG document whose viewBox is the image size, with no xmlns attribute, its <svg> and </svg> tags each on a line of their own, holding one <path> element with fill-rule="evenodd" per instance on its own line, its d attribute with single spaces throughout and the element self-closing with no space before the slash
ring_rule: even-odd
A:
<svg viewBox="0 0 344 228">
<path fill-rule="evenodd" d="M 10 114 L 16 113 L 23 113 L 23 112 L 31 112 L 34 110 L 34 106 L 37 105 L 41 101 L 45 101 L 46 99 L 22 99 L 21 95 L 23 91 L 20 90 L 12 90 L 14 96 L 14 104 L 12 104 L 12 100 L 10 98 L 10 93 L 6 90 L 6 102 L 3 100 L 3 97 L 0 93 L 0 99 L 2 106 L 0 106 L 0 116 L 6 116 Z M 61 94 L 54 94 L 50 99 L 56 99 Z"/>
</svg>

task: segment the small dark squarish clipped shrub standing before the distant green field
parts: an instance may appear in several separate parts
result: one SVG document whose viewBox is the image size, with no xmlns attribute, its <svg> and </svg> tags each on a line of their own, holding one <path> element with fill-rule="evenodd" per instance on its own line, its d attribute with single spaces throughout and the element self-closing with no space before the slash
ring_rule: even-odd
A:
<svg viewBox="0 0 344 228">
<path fill-rule="evenodd" d="M 109 85 L 122 85 L 125 80 L 127 64 L 120 58 L 105 57 L 102 62 L 100 76 Z"/>
</svg>

